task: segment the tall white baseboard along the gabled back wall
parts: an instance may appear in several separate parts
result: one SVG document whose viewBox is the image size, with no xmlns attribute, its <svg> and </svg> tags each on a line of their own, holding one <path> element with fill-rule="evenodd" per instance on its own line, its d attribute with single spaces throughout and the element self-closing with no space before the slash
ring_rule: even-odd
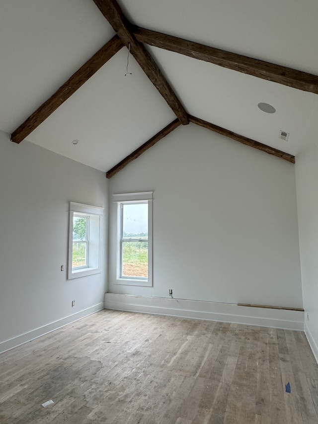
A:
<svg viewBox="0 0 318 424">
<path fill-rule="evenodd" d="M 105 293 L 105 309 L 304 331 L 304 312 L 199 300 Z"/>
</svg>

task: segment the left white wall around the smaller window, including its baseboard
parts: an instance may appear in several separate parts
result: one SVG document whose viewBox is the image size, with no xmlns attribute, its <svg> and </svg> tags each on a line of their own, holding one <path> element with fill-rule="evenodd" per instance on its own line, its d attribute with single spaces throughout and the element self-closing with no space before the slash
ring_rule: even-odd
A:
<svg viewBox="0 0 318 424">
<path fill-rule="evenodd" d="M 104 172 L 0 132 L 0 351 L 103 307 L 107 217 L 102 272 L 67 280 L 68 211 L 75 201 L 107 213 L 107 185 Z"/>
</svg>

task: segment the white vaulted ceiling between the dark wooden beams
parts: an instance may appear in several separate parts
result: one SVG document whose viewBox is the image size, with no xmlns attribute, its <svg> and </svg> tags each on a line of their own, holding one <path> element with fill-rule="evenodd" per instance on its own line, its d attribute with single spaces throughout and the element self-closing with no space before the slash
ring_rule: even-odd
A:
<svg viewBox="0 0 318 424">
<path fill-rule="evenodd" d="M 318 74 L 317 0 L 119 4 L 139 26 Z M 92 0 L 1 0 L 0 129 L 15 130 L 113 35 Z M 316 94 L 147 49 L 188 113 L 297 155 Z M 132 56 L 125 76 L 127 54 L 121 49 L 27 139 L 107 171 L 174 120 Z M 259 102 L 276 113 L 261 112 Z"/>
</svg>

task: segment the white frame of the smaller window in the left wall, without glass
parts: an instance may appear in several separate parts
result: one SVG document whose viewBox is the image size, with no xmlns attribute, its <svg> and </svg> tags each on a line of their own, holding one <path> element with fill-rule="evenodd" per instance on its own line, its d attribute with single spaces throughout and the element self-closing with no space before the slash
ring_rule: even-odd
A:
<svg viewBox="0 0 318 424">
<path fill-rule="evenodd" d="M 98 274 L 100 267 L 100 249 L 104 208 L 70 202 L 69 224 L 69 260 L 68 278 L 79 278 L 86 275 Z M 87 264 L 73 268 L 73 218 L 74 216 L 88 217 L 87 235 Z"/>
</svg>

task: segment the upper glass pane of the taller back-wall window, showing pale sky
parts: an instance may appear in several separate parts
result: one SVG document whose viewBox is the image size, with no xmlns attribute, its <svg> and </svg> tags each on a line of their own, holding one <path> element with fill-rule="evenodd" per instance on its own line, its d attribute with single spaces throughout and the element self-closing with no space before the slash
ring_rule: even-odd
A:
<svg viewBox="0 0 318 424">
<path fill-rule="evenodd" d="M 123 205 L 123 238 L 148 238 L 148 203 Z"/>
</svg>

